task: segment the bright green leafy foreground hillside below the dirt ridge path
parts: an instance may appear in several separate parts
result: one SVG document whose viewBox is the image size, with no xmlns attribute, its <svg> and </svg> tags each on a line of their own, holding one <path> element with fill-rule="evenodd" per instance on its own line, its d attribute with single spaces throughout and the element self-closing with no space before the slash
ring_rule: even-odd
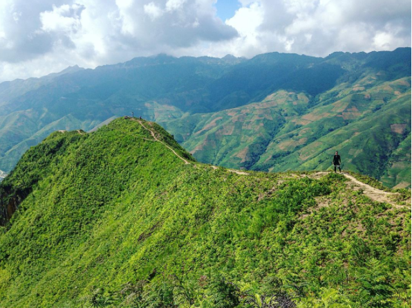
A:
<svg viewBox="0 0 412 308">
<path fill-rule="evenodd" d="M 340 174 L 185 164 L 132 120 L 76 134 L 0 184 L 31 189 L 1 229 L 0 307 L 409 307 L 409 208 Z"/>
</svg>

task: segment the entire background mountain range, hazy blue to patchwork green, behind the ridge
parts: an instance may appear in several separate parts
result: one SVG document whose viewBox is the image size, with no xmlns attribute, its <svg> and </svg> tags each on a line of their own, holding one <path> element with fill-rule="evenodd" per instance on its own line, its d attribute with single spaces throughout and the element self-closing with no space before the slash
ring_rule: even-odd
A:
<svg viewBox="0 0 412 308">
<path fill-rule="evenodd" d="M 139 57 L 0 84 L 0 170 L 56 130 L 156 120 L 195 158 L 252 170 L 346 170 L 411 185 L 411 48 Z"/>
</svg>

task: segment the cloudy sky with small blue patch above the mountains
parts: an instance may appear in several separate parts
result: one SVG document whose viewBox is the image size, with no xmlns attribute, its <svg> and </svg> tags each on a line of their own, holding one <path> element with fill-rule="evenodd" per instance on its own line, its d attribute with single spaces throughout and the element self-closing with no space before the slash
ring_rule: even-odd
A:
<svg viewBox="0 0 412 308">
<path fill-rule="evenodd" d="M 0 82 L 167 53 L 411 46 L 411 0 L 0 0 Z"/>
</svg>

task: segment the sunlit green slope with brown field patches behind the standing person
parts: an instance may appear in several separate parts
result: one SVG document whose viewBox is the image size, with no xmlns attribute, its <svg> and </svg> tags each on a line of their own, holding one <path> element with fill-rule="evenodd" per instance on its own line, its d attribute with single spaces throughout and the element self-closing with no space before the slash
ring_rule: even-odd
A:
<svg viewBox="0 0 412 308">
<path fill-rule="evenodd" d="M 411 78 L 361 75 L 313 100 L 277 91 L 262 102 L 162 123 L 199 161 L 263 171 L 346 170 L 411 187 Z M 403 155 L 400 155 L 402 153 Z"/>
</svg>

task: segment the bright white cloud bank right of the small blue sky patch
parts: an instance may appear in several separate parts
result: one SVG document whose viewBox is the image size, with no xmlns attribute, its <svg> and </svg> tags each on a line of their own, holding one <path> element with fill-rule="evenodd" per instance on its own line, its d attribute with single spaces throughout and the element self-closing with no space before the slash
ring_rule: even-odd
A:
<svg viewBox="0 0 412 308">
<path fill-rule="evenodd" d="M 334 51 L 382 51 L 411 46 L 409 0 L 241 0 L 226 21 L 241 35 L 218 55 L 252 57 L 268 51 L 325 56 Z"/>
</svg>

